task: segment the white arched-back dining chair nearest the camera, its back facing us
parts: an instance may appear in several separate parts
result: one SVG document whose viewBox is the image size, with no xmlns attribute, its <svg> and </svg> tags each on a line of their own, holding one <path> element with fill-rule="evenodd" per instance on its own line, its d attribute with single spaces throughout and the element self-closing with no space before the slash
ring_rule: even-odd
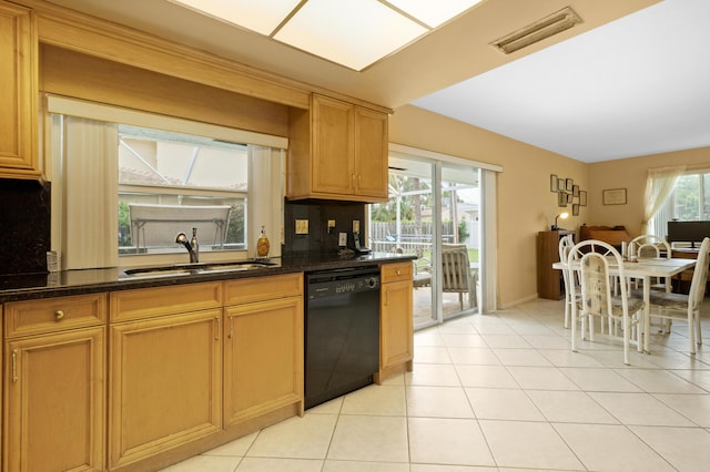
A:
<svg viewBox="0 0 710 472">
<path fill-rule="evenodd" d="M 570 284 L 571 297 L 576 300 L 577 291 L 581 290 L 581 297 L 572 304 L 571 310 L 571 349 L 577 352 L 577 317 L 581 318 L 582 339 L 585 336 L 585 320 L 589 324 L 589 340 L 594 341 L 594 318 L 599 317 L 609 326 L 621 327 L 623 341 L 623 363 L 629 365 L 629 345 L 636 340 L 638 350 L 641 351 L 639 325 L 642 322 L 643 300 L 629 296 L 628 285 L 619 283 L 619 295 L 613 295 L 613 280 L 609 271 L 609 264 L 618 267 L 619 280 L 626 280 L 623 259 L 613 246 L 596 239 L 587 239 L 576 244 L 567 256 L 568 277 L 574 277 L 579 271 L 579 287 Z M 615 338 L 618 330 L 609 330 L 608 336 Z"/>
</svg>

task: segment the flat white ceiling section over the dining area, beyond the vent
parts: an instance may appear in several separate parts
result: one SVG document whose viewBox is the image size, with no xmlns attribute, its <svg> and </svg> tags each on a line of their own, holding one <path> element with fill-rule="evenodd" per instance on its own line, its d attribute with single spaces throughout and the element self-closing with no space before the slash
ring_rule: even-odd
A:
<svg viewBox="0 0 710 472">
<path fill-rule="evenodd" d="M 709 146 L 709 20 L 666 0 L 413 103 L 584 162 Z"/>
</svg>

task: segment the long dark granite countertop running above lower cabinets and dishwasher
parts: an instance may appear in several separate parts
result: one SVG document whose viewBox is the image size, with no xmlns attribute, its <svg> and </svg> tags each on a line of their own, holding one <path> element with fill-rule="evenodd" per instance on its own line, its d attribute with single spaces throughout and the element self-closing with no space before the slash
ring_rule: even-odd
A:
<svg viewBox="0 0 710 472">
<path fill-rule="evenodd" d="M 68 295 L 116 291 L 132 288 L 163 287 L 211 280 L 262 277 L 277 274 L 362 267 L 415 259 L 412 255 L 373 253 L 365 256 L 307 255 L 270 258 L 273 266 L 242 271 L 202 273 L 174 277 L 131 277 L 122 268 L 62 270 L 50 274 L 0 275 L 0 302 L 52 298 Z"/>
</svg>

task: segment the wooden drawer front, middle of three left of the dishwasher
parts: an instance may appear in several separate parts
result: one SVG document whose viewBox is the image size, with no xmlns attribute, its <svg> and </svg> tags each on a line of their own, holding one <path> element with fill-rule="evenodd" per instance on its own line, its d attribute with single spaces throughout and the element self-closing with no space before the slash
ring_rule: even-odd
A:
<svg viewBox="0 0 710 472">
<path fill-rule="evenodd" d="M 111 293 L 111 322 L 197 311 L 222 306 L 222 284 L 185 284 Z"/>
</svg>

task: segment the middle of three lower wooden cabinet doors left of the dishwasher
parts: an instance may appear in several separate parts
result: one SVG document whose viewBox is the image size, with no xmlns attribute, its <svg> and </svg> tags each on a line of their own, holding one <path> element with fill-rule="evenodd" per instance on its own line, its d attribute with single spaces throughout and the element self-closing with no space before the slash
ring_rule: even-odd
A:
<svg viewBox="0 0 710 472">
<path fill-rule="evenodd" d="M 109 466 L 220 431 L 221 309 L 110 326 Z"/>
</svg>

